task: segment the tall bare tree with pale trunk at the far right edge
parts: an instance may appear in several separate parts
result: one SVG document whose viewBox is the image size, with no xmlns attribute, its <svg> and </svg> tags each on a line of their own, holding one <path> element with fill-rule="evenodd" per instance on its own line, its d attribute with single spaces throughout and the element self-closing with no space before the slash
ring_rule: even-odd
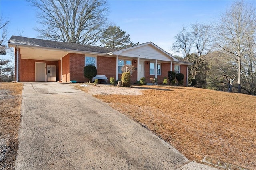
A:
<svg viewBox="0 0 256 170">
<path fill-rule="evenodd" d="M 226 13 L 221 15 L 220 21 L 215 24 L 214 32 L 217 46 L 229 53 L 230 59 L 238 67 L 238 93 L 241 93 L 241 73 L 252 71 L 251 64 L 255 59 L 255 6 L 244 1 L 235 1 Z M 250 64 L 246 57 L 252 59 Z M 250 68 L 243 65 L 250 65 Z"/>
</svg>

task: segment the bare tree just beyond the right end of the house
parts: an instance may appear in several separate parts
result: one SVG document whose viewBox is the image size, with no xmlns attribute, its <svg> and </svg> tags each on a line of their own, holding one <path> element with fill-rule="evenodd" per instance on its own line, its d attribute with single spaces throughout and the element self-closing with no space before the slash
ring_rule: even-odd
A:
<svg viewBox="0 0 256 170">
<path fill-rule="evenodd" d="M 200 67 L 204 62 L 203 57 L 209 51 L 209 39 L 210 26 L 198 23 L 191 24 L 190 28 L 183 27 L 175 36 L 172 49 L 176 50 L 176 52 L 182 52 L 184 58 L 194 64 L 190 66 L 192 79 L 196 79 L 196 76 L 201 71 Z"/>
</svg>

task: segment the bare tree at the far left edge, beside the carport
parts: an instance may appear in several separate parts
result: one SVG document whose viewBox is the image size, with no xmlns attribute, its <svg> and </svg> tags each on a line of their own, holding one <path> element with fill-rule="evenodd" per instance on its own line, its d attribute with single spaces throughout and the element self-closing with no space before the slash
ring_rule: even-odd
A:
<svg viewBox="0 0 256 170">
<path fill-rule="evenodd" d="M 7 50 L 9 49 L 6 45 L 4 45 L 4 42 L 7 39 L 7 26 L 9 24 L 10 20 L 5 20 L 5 18 L 1 15 L 0 16 L 0 54 L 6 55 Z"/>
</svg>

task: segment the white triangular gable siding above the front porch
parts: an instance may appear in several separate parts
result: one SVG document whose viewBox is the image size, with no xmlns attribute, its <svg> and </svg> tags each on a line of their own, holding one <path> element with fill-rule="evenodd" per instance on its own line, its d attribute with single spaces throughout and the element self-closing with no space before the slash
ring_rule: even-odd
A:
<svg viewBox="0 0 256 170">
<path fill-rule="evenodd" d="M 163 53 L 162 51 L 156 49 L 152 45 L 145 45 L 142 47 L 130 49 L 123 51 L 119 54 L 120 56 L 127 56 L 127 57 L 140 57 L 144 59 L 157 59 L 162 61 L 173 61 L 173 59 Z"/>
</svg>

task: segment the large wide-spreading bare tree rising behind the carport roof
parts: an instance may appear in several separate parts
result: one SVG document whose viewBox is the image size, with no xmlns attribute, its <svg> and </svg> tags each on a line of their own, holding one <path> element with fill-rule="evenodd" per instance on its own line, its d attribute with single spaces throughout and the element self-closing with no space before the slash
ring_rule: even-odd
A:
<svg viewBox="0 0 256 170">
<path fill-rule="evenodd" d="M 30 0 L 38 9 L 39 38 L 94 45 L 106 30 L 105 0 Z"/>
</svg>

